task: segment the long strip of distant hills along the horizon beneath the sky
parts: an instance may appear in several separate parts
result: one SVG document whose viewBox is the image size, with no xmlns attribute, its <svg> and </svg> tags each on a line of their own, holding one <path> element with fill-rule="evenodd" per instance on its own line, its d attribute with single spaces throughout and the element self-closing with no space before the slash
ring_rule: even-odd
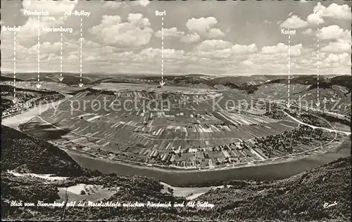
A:
<svg viewBox="0 0 352 222">
<path fill-rule="evenodd" d="M 11 73 L 4 73 L 1 81 L 13 81 Z M 37 73 L 19 73 L 22 79 L 18 81 L 34 81 L 37 79 Z M 25 78 L 23 78 L 25 76 Z M 41 81 L 59 82 L 59 73 L 46 73 Z M 136 84 L 158 84 L 161 80 L 160 75 L 141 75 L 141 74 L 84 74 L 80 78 L 79 74 L 63 73 L 63 81 L 61 84 L 68 86 L 76 85 L 82 79 L 84 85 L 100 84 L 103 82 L 127 82 Z M 230 89 L 240 89 L 247 91 L 247 93 L 255 92 L 259 86 L 270 86 L 272 84 L 287 84 L 287 76 L 284 75 L 251 75 L 251 76 L 226 76 L 226 77 L 212 77 L 205 74 L 186 74 L 186 75 L 165 75 L 164 80 L 168 85 L 175 86 L 191 86 L 213 89 L 214 86 L 225 86 Z M 297 75 L 291 77 L 291 84 L 310 85 L 310 89 L 317 88 L 318 78 L 316 75 Z M 351 91 L 352 78 L 348 75 L 320 76 L 320 88 L 330 89 L 334 85 L 345 86 Z M 216 88 L 216 87 L 215 87 Z"/>
</svg>

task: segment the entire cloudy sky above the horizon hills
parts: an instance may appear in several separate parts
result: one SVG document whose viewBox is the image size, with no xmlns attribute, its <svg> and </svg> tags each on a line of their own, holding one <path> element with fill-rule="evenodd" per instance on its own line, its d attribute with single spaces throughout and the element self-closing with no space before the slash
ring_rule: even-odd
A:
<svg viewBox="0 0 352 222">
<path fill-rule="evenodd" d="M 90 13 L 82 37 L 70 11 Z M 43 27 L 72 28 L 62 51 Z M 37 72 L 38 56 L 39 72 L 79 73 L 82 56 L 82 73 L 351 74 L 351 1 L 1 1 L 1 71 Z"/>
</svg>

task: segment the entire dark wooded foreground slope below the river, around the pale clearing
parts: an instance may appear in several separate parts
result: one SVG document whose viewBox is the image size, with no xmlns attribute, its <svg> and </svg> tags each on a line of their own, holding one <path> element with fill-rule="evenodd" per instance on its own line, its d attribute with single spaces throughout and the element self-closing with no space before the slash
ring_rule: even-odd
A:
<svg viewBox="0 0 352 222">
<path fill-rule="evenodd" d="M 23 202 L 58 201 L 59 190 L 78 183 L 120 188 L 105 201 L 185 202 L 161 192 L 157 179 L 139 176 L 100 174 L 80 168 L 54 145 L 3 126 L 1 171 L 2 218 L 31 220 L 138 220 L 138 221 L 349 221 L 351 157 L 320 166 L 279 181 L 229 181 L 226 188 L 214 189 L 194 201 L 215 207 L 11 207 L 11 200 Z M 25 165 L 24 165 L 25 164 Z M 15 176 L 7 169 L 25 166 L 37 174 L 70 176 L 63 181 L 46 181 L 30 176 Z M 76 195 L 79 196 L 79 195 Z M 87 195 L 86 195 L 87 196 Z M 88 196 L 87 196 L 88 197 Z M 324 204 L 333 204 L 325 208 Z"/>
</svg>

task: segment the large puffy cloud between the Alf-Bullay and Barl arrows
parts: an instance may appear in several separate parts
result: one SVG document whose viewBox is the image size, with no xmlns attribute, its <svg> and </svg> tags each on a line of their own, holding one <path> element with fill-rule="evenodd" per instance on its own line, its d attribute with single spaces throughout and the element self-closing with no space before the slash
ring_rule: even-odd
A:
<svg viewBox="0 0 352 222">
<path fill-rule="evenodd" d="M 89 32 L 104 44 L 120 47 L 138 47 L 149 44 L 153 30 L 148 18 L 140 13 L 130 13 L 127 22 L 118 15 L 103 15 L 101 23 L 89 29 Z"/>
</svg>

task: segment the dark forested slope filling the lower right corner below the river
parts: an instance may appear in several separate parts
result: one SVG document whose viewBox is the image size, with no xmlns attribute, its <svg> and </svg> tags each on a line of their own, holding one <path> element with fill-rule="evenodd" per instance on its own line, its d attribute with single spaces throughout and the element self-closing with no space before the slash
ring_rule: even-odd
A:
<svg viewBox="0 0 352 222">
<path fill-rule="evenodd" d="M 213 202 L 220 220 L 350 221 L 351 157 L 280 181 L 210 190 L 199 200 Z"/>
</svg>

